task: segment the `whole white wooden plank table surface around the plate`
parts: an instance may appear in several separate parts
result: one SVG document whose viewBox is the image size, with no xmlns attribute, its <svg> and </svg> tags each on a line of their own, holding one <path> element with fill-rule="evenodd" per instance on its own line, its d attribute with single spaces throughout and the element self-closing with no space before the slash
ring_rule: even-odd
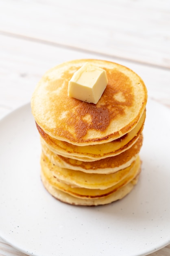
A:
<svg viewBox="0 0 170 256">
<path fill-rule="evenodd" d="M 0 0 L 0 118 L 31 99 L 54 65 L 118 62 L 170 108 L 169 0 Z M 24 256 L 0 238 L 0 256 Z M 170 245 L 150 254 L 169 256 Z"/>
</svg>

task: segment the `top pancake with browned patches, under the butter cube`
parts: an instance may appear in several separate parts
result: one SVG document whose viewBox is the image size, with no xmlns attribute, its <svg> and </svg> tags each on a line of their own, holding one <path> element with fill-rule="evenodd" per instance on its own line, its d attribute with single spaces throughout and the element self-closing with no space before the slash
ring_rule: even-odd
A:
<svg viewBox="0 0 170 256">
<path fill-rule="evenodd" d="M 84 63 L 103 68 L 108 84 L 97 104 L 68 96 L 68 82 Z M 75 60 L 44 74 L 31 99 L 38 126 L 51 137 L 78 146 L 102 144 L 131 131 L 144 112 L 147 90 L 132 70 L 100 60 Z"/>
</svg>

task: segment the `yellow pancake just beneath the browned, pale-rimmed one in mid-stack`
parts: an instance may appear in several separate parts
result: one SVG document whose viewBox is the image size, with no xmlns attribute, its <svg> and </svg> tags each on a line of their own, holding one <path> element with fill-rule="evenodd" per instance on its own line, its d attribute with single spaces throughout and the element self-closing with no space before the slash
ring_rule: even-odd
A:
<svg viewBox="0 0 170 256">
<path fill-rule="evenodd" d="M 72 187 L 86 189 L 107 189 L 122 181 L 131 171 L 135 161 L 127 168 L 111 174 L 85 173 L 71 169 L 61 168 L 50 162 L 48 157 L 41 154 L 41 168 L 47 168 L 59 182 L 64 182 Z"/>
</svg>

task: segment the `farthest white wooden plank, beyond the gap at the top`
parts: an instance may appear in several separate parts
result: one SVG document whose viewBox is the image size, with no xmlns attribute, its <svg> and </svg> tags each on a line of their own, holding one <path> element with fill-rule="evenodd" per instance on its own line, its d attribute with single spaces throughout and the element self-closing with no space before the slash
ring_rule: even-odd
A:
<svg viewBox="0 0 170 256">
<path fill-rule="evenodd" d="M 170 68 L 169 0 L 1 0 L 0 32 Z"/>
</svg>

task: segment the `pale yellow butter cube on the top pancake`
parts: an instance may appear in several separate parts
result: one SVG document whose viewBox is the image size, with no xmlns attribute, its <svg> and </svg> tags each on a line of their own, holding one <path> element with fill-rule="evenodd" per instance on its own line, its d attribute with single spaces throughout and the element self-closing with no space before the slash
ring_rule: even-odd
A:
<svg viewBox="0 0 170 256">
<path fill-rule="evenodd" d="M 68 96 L 89 103 L 98 103 L 107 86 L 105 70 L 85 63 L 68 83 Z"/>
</svg>

